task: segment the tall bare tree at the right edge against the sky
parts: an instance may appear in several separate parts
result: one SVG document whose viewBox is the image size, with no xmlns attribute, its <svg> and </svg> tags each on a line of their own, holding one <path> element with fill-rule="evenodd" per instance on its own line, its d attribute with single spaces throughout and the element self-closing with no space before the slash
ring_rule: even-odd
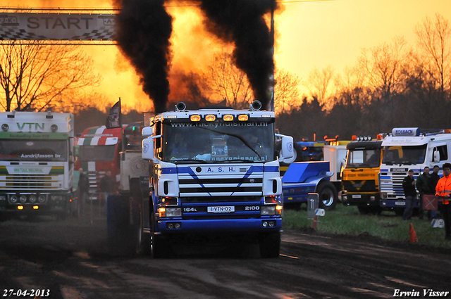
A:
<svg viewBox="0 0 451 299">
<path fill-rule="evenodd" d="M 451 28 L 449 22 L 440 13 L 435 19 L 428 18 L 415 27 L 416 43 L 426 58 L 430 59 L 428 71 L 435 77 L 440 91 L 445 90 L 445 78 L 450 75 L 450 46 Z M 428 60 L 429 60 L 428 59 Z"/>
</svg>

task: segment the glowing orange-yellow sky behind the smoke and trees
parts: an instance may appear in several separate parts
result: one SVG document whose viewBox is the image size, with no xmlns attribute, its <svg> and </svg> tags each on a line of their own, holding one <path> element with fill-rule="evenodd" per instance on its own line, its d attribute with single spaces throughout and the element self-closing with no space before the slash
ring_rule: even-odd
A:
<svg viewBox="0 0 451 299">
<path fill-rule="evenodd" d="M 6 3 L 5 3 L 6 2 Z M 2 6 L 109 8 L 109 0 L 6 0 Z M 357 62 L 360 49 L 404 37 L 415 46 L 414 26 L 426 15 L 441 13 L 451 22 L 450 0 L 281 0 L 283 13 L 276 15 L 278 42 L 275 61 L 278 68 L 288 70 L 307 81 L 315 67 L 328 65 L 342 72 Z M 175 17 L 173 24 L 173 65 L 190 65 L 202 70 L 221 45 L 213 38 L 200 38 L 199 15 L 195 8 L 167 8 Z M 142 92 L 135 71 L 123 61 L 116 46 L 84 46 L 94 59 L 94 71 L 103 81 L 97 92 L 114 103 L 121 96 L 123 103 L 149 110 L 151 101 Z"/>
</svg>

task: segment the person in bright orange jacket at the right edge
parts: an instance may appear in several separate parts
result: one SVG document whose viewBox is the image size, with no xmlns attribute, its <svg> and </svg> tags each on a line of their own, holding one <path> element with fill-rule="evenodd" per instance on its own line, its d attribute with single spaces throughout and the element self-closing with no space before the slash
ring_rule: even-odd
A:
<svg viewBox="0 0 451 299">
<path fill-rule="evenodd" d="M 439 196 L 438 209 L 443 214 L 445 221 L 445 239 L 451 239 L 451 164 L 443 164 L 443 177 L 438 181 L 435 187 L 435 195 Z"/>
</svg>

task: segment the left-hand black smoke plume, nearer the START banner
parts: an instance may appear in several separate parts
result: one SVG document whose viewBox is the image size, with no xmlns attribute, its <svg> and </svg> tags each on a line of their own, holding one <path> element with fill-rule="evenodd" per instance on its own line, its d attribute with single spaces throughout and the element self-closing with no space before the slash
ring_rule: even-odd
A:
<svg viewBox="0 0 451 299">
<path fill-rule="evenodd" d="M 116 0 L 115 39 L 141 76 L 143 90 L 154 101 L 156 113 L 166 110 L 169 95 L 172 17 L 164 0 Z"/>
</svg>

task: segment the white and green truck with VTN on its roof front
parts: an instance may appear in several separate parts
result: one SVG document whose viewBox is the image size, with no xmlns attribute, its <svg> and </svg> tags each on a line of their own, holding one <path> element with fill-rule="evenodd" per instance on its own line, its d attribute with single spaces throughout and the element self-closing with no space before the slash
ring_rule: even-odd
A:
<svg viewBox="0 0 451 299">
<path fill-rule="evenodd" d="M 0 126 L 0 218 L 74 212 L 73 115 L 4 112 Z"/>
</svg>

